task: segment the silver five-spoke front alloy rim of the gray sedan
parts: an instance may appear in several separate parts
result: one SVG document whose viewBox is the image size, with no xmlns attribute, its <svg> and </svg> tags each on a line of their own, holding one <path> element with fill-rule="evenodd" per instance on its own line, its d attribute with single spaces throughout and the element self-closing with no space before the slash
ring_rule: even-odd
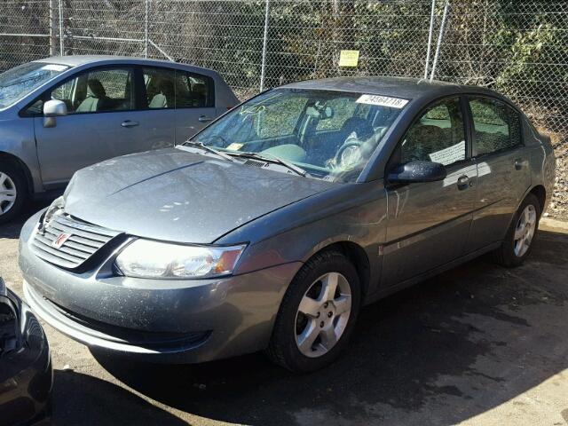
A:
<svg viewBox="0 0 568 426">
<path fill-rule="evenodd" d="M 339 341 L 351 314 L 351 286 L 338 272 L 328 272 L 305 292 L 296 312 L 296 344 L 318 358 Z"/>
</svg>

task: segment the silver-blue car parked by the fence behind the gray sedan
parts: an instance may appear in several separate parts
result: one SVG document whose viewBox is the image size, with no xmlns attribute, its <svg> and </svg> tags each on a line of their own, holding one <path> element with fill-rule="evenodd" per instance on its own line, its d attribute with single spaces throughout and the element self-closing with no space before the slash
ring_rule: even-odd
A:
<svg viewBox="0 0 568 426">
<path fill-rule="evenodd" d="M 182 143 L 237 103 L 217 72 L 162 60 L 54 57 L 0 74 L 0 224 L 76 170 Z"/>
</svg>

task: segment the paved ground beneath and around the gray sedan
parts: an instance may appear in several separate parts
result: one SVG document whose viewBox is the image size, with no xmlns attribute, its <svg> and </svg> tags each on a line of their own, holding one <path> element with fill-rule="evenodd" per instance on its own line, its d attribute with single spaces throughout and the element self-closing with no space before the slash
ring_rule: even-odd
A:
<svg viewBox="0 0 568 426">
<path fill-rule="evenodd" d="M 0 226 L 0 274 L 21 295 L 20 226 Z M 343 359 L 312 375 L 262 354 L 133 364 L 45 327 L 54 424 L 568 424 L 568 225 L 543 228 L 523 267 L 481 258 L 368 306 Z"/>
</svg>

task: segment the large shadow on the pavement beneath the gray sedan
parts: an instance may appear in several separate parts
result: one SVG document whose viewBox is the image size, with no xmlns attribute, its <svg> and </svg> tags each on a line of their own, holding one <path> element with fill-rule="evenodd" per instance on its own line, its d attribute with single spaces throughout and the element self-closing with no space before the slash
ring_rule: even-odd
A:
<svg viewBox="0 0 568 426">
<path fill-rule="evenodd" d="M 259 353 L 192 366 L 93 355 L 130 388 L 217 421 L 454 424 L 568 367 L 567 265 L 568 235 L 551 232 L 519 268 L 464 264 L 365 307 L 343 357 L 309 375 Z"/>
</svg>

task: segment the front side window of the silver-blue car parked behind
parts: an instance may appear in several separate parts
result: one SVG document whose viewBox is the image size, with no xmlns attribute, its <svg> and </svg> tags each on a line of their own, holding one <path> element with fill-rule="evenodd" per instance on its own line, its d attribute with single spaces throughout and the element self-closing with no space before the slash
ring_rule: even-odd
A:
<svg viewBox="0 0 568 426">
<path fill-rule="evenodd" d="M 50 99 L 67 105 L 67 114 L 134 109 L 132 70 L 99 69 L 83 73 L 53 89 Z"/>
</svg>

